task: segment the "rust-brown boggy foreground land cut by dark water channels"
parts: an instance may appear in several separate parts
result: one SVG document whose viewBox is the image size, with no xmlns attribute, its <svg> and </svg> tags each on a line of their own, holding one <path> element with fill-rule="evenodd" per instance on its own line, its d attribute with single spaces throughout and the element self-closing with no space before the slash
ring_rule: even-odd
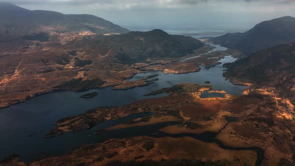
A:
<svg viewBox="0 0 295 166">
<path fill-rule="evenodd" d="M 103 132 L 165 121 L 180 123 L 158 130 L 171 134 L 168 137 L 138 135 L 125 139 L 110 139 L 102 144 L 86 146 L 86 149 L 78 148 L 70 155 L 48 157 L 31 164 L 82 162 L 104 165 L 116 160 L 122 163 L 136 160 L 139 164 L 143 161 L 147 162 L 146 160 L 160 162 L 163 159 L 174 159 L 172 163 L 175 163 L 177 162 L 175 159 L 184 159 L 202 162 L 221 160 L 222 163 L 219 165 L 254 165 L 256 157 L 252 150 L 231 151 L 222 149 L 215 143 L 200 141 L 190 136 L 173 137 L 181 133 L 200 134 L 206 131 L 217 132 L 216 138 L 227 146 L 260 147 L 264 150 L 263 165 L 293 162 L 295 143 L 292 133 L 295 123 L 291 113 L 293 105 L 287 99 L 278 97 L 269 89 L 251 87 L 240 96 L 226 94 L 224 98 L 200 98 L 199 95 L 204 90 L 208 88 L 200 88 L 195 92 L 171 92 L 167 97 L 139 100 L 119 107 L 96 108 L 78 116 L 61 119 L 57 121 L 56 128 L 51 131 L 51 136 L 62 132 L 88 129 L 102 121 L 138 112 L 152 112 L 152 115 L 105 128 Z M 236 120 L 228 122 L 225 117 L 236 117 Z M 152 150 L 142 150 L 142 145 L 147 141 L 154 143 Z M 114 147 L 109 144 L 103 148 L 103 145 L 110 142 L 120 143 L 115 143 Z M 104 149 L 103 152 L 101 148 Z M 108 157 L 108 154 L 111 157 Z M 99 159 L 95 160 L 97 158 Z"/>
</svg>

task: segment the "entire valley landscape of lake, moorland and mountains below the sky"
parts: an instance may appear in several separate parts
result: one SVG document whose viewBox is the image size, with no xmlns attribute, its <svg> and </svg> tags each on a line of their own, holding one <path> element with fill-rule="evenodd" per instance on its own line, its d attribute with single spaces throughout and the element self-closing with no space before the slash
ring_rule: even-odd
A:
<svg viewBox="0 0 295 166">
<path fill-rule="evenodd" d="M 130 31 L 0 2 L 0 166 L 293 165 L 294 25 Z"/>
</svg>

